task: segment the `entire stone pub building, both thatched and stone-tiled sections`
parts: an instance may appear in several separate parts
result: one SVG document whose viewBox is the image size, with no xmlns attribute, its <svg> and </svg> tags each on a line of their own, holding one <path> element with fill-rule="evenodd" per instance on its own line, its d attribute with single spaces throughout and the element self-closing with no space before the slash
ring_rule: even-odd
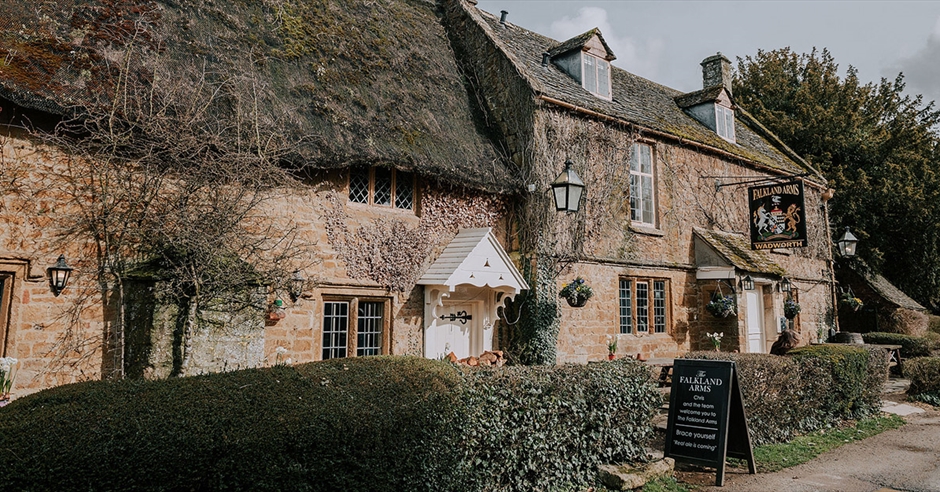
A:
<svg viewBox="0 0 940 492">
<path fill-rule="evenodd" d="M 723 350 L 766 352 L 787 296 L 805 342 L 835 322 L 825 180 L 735 105 L 720 55 L 683 94 L 610 65 L 598 30 L 552 40 L 466 0 L 294 0 L 14 2 L 0 56 L 16 394 L 378 354 L 586 362 L 608 337 L 621 355 L 681 355 L 716 331 Z M 566 161 L 586 185 L 576 213 L 549 191 Z M 174 215 L 163 200 L 193 170 L 217 173 Z M 112 182 L 98 176 L 160 178 L 108 190 L 169 212 L 99 227 L 135 202 L 91 193 Z M 752 250 L 747 187 L 794 181 L 806 247 Z M 264 248 L 213 254 L 229 245 L 204 229 L 243 225 L 200 210 L 233 195 L 257 199 L 237 251 L 259 231 Z M 56 294 L 59 255 L 73 270 Z M 576 277 L 595 293 L 580 308 L 558 298 Z M 194 294 L 209 280 L 239 295 Z M 716 292 L 735 316 L 707 313 Z"/>
</svg>

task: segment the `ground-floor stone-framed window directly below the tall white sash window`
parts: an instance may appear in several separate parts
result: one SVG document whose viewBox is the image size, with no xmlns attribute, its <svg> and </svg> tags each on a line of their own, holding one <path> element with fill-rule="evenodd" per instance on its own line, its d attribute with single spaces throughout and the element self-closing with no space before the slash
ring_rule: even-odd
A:
<svg viewBox="0 0 940 492">
<path fill-rule="evenodd" d="M 620 333 L 666 333 L 667 282 L 662 279 L 620 279 Z"/>
</svg>

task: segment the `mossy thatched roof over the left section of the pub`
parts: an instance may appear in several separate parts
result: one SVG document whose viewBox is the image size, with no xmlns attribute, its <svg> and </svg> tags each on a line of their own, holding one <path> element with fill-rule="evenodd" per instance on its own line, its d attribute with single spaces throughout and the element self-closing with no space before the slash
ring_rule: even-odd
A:
<svg viewBox="0 0 940 492">
<path fill-rule="evenodd" d="M 432 1 L 0 5 L 0 97 L 22 107 L 63 114 L 100 104 L 128 53 L 139 54 L 138 81 L 238 81 L 230 99 L 257 102 L 294 164 L 378 164 L 487 191 L 519 187 Z"/>
</svg>

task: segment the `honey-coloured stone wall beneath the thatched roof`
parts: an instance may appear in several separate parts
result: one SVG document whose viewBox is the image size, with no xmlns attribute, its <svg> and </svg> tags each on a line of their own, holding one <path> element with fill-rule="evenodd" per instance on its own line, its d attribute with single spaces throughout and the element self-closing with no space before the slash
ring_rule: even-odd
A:
<svg viewBox="0 0 940 492">
<path fill-rule="evenodd" d="M 10 278 L 4 283 L 10 295 L 4 347 L 20 367 L 14 396 L 120 374 L 121 353 L 111 349 L 120 346 L 112 331 L 120 312 L 118 296 L 112 285 L 99 283 L 93 242 L 74 227 L 78 211 L 66 206 L 62 166 L 69 156 L 26 135 L 8 135 L 0 144 L 0 165 L 9 178 L 0 208 L 0 277 Z M 303 182 L 285 185 L 282 196 L 263 213 L 283 230 L 299 231 L 299 253 L 291 261 L 307 278 L 305 292 L 296 302 L 288 292 L 268 292 L 265 311 L 281 299 L 284 318 L 263 327 L 253 319 L 222 323 L 244 329 L 200 331 L 195 372 L 270 365 L 278 347 L 287 349 L 282 360 L 319 360 L 324 295 L 388 299 L 388 352 L 420 355 L 424 297 L 415 281 L 460 228 L 493 227 L 503 244 L 512 241 L 505 197 L 442 185 L 426 176 L 418 176 L 415 210 L 348 203 L 342 171 L 314 171 Z M 59 254 L 75 270 L 69 287 L 56 297 L 46 268 Z M 166 338 L 175 318 L 171 311 L 153 307 L 150 316 L 162 323 L 157 330 L 162 334 L 144 338 L 158 352 L 151 354 L 153 362 L 160 362 L 135 362 L 136 374 L 163 377 L 172 372 L 166 365 L 172 360 L 172 343 Z"/>
</svg>

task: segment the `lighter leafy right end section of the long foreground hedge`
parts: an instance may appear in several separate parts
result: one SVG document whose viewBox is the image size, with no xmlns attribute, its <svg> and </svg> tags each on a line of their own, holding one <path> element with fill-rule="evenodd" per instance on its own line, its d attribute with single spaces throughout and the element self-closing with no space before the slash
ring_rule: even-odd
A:
<svg viewBox="0 0 940 492">
<path fill-rule="evenodd" d="M 633 359 L 464 375 L 472 471 L 462 490 L 584 490 L 598 465 L 644 457 L 663 402 Z"/>
</svg>

